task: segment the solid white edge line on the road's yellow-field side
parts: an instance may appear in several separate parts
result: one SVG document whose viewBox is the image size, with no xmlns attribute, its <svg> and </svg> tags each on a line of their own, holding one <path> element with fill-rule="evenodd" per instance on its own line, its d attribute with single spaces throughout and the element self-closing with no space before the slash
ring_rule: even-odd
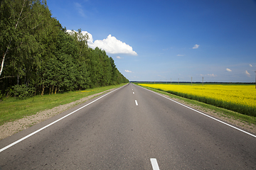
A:
<svg viewBox="0 0 256 170">
<path fill-rule="evenodd" d="M 142 89 L 146 89 L 146 88 L 144 88 L 144 87 L 142 87 L 142 86 L 139 86 L 139 87 L 141 87 Z M 147 91 L 151 91 L 151 90 L 149 90 L 149 89 L 146 89 Z M 154 94 L 157 94 L 156 92 L 154 92 L 154 91 L 151 91 L 152 93 L 154 93 Z M 159 95 L 159 96 L 162 96 L 162 97 L 164 97 L 164 98 L 167 98 L 168 100 L 170 100 L 170 101 L 174 101 L 174 100 L 172 100 L 171 98 L 168 98 L 168 97 L 166 97 L 166 96 L 163 96 L 163 95 L 161 95 L 161 94 L 157 94 L 157 95 Z M 178 101 L 174 101 L 175 103 L 178 103 Z M 186 107 L 186 108 L 189 108 L 189 109 L 191 109 L 192 111 L 196 111 L 196 109 L 193 109 L 193 108 L 190 108 L 190 107 L 188 107 L 188 106 L 186 106 L 186 105 L 183 105 L 182 103 L 178 103 L 179 105 L 181 105 L 181 106 L 184 106 L 184 107 Z M 202 112 L 200 112 L 200 111 L 196 111 L 197 113 L 200 113 L 200 114 L 202 114 L 202 115 L 206 115 L 205 113 L 202 113 Z M 218 120 L 218 119 L 216 119 L 216 118 L 213 118 L 213 117 L 211 117 L 210 115 L 206 115 L 208 118 L 211 118 L 211 119 L 213 119 L 213 120 L 216 120 L 216 121 L 218 121 L 218 122 L 220 122 L 220 123 L 223 123 L 224 125 L 228 125 L 229 127 L 231 127 L 231 128 L 234 128 L 234 129 L 236 129 L 236 130 L 239 130 L 240 132 L 244 132 L 244 133 L 246 133 L 247 135 L 251 135 L 252 137 L 256 137 L 256 135 L 252 135 L 250 132 L 246 132 L 245 130 L 241 130 L 241 129 L 239 129 L 239 128 L 236 128 L 235 126 L 233 126 L 233 125 L 230 125 L 230 124 L 228 124 L 228 123 L 225 123 L 225 122 L 223 122 L 223 121 L 221 121 L 221 120 Z"/>
</svg>

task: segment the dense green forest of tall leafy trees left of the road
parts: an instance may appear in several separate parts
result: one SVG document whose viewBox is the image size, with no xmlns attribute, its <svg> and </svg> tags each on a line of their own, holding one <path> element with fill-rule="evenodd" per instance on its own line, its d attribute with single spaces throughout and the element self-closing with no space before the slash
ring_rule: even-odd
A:
<svg viewBox="0 0 256 170">
<path fill-rule="evenodd" d="M 26 98 L 129 82 L 105 50 L 67 33 L 45 0 L 1 0 L 0 98 Z"/>
</svg>

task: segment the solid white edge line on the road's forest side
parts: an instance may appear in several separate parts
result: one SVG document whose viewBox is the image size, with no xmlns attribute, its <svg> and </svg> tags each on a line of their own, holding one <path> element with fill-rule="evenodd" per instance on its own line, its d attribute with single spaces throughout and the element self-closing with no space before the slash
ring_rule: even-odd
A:
<svg viewBox="0 0 256 170">
<path fill-rule="evenodd" d="M 124 85 L 124 86 L 125 86 L 125 85 Z M 119 87 L 118 89 L 121 89 L 121 88 L 124 87 L 124 86 L 121 86 L 121 87 Z M 113 90 L 113 91 L 110 91 L 109 93 L 107 93 L 107 94 L 101 96 L 100 98 L 103 98 L 103 97 L 107 96 L 108 94 L 111 94 L 112 92 L 114 92 L 114 91 L 116 91 L 116 90 L 118 90 L 118 89 L 115 89 L 115 90 Z M 100 98 L 97 98 L 95 101 L 100 100 Z M 85 108 L 86 106 L 90 105 L 91 103 L 94 103 L 95 101 L 92 101 L 92 102 L 90 102 L 90 103 L 87 103 L 85 106 L 82 106 L 81 108 L 78 108 L 77 110 L 75 110 L 75 111 L 73 111 L 73 112 L 71 112 L 71 113 L 68 113 L 68 115 L 65 115 L 65 116 L 63 116 L 62 118 L 59 118 L 58 120 L 55 120 L 53 123 L 50 123 L 50 124 L 44 126 L 43 128 L 41 128 L 41 129 L 39 129 L 39 130 L 36 130 L 35 132 L 32 132 L 31 134 L 26 135 L 25 137 L 22 137 L 20 140 L 17 140 L 16 142 L 13 142 L 13 143 L 11 143 L 10 145 L 7 145 L 6 147 L 3 147 L 2 149 L 0 149 L 0 152 L 3 152 L 5 149 L 8 149 L 9 147 L 12 147 L 12 146 L 16 145 L 18 142 L 21 142 L 21 141 L 23 141 L 23 140 L 26 140 L 26 138 L 31 137 L 32 135 L 35 135 L 37 132 L 40 132 L 41 130 L 44 130 L 44 129 L 48 128 L 50 125 L 53 125 L 54 123 L 58 123 L 58 121 L 63 120 L 63 118 L 67 118 L 69 115 L 72 115 L 73 113 L 79 111 L 79 110 L 82 109 L 82 108 Z"/>
</svg>

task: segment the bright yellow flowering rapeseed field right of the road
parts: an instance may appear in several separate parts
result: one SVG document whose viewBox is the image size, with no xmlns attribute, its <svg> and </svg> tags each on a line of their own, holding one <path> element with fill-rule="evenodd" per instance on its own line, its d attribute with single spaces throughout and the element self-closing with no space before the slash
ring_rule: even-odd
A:
<svg viewBox="0 0 256 170">
<path fill-rule="evenodd" d="M 255 85 L 235 84 L 139 84 L 214 106 L 256 116 Z"/>
</svg>

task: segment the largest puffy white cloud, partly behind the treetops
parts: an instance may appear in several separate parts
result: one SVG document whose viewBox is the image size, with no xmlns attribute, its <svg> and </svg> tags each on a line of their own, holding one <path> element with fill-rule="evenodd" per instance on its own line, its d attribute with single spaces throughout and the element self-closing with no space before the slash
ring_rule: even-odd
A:
<svg viewBox="0 0 256 170">
<path fill-rule="evenodd" d="M 67 32 L 72 33 L 72 30 L 67 30 Z M 87 31 L 82 31 L 82 35 L 85 35 L 86 33 L 89 37 L 87 40 L 88 46 L 93 49 L 95 49 L 95 47 L 99 47 L 109 54 L 137 55 L 137 52 L 134 52 L 131 46 L 127 45 L 125 42 L 117 40 L 117 38 L 112 35 L 108 35 L 106 39 L 95 40 L 95 42 L 93 42 L 92 35 Z"/>
</svg>

